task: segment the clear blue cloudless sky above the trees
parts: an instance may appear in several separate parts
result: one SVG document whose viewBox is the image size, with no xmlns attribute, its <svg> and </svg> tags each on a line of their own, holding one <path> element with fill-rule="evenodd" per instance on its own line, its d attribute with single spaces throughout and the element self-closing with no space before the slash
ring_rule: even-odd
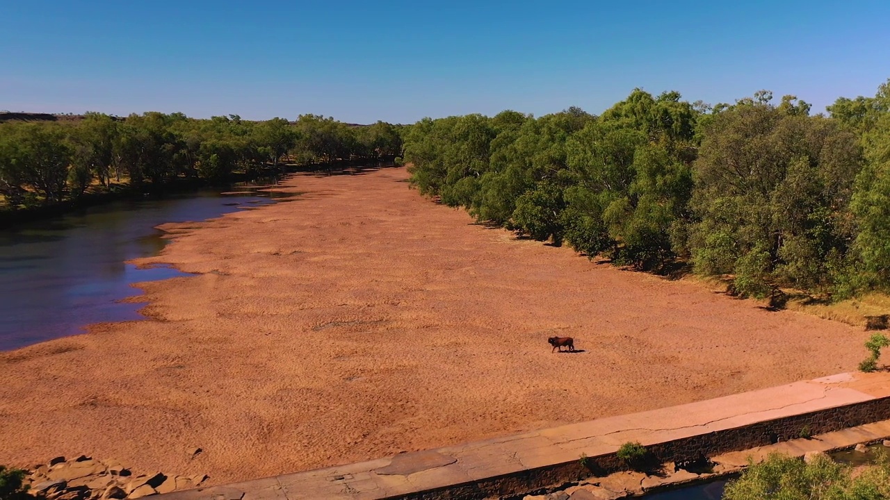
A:
<svg viewBox="0 0 890 500">
<path fill-rule="evenodd" d="M 890 77 L 890 0 L 4 0 L 0 109 L 347 122 L 600 113 L 634 87 L 821 111 Z"/>
</svg>

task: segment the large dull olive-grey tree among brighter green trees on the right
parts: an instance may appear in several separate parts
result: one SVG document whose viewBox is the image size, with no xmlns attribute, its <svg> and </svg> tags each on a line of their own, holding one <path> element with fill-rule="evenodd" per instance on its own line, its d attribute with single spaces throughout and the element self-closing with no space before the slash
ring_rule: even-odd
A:
<svg viewBox="0 0 890 500">
<path fill-rule="evenodd" d="M 695 270 L 736 275 L 761 296 L 774 282 L 829 291 L 848 251 L 855 136 L 806 115 L 809 105 L 769 93 L 709 120 L 695 163 L 689 246 Z"/>
</svg>

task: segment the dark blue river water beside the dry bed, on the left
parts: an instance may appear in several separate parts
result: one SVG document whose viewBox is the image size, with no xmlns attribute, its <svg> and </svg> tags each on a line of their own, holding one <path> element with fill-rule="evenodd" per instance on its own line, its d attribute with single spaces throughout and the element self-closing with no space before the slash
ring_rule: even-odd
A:
<svg viewBox="0 0 890 500">
<path fill-rule="evenodd" d="M 141 319 L 131 285 L 183 273 L 138 270 L 125 261 L 158 254 L 165 222 L 204 221 L 290 196 L 237 186 L 165 198 L 112 202 L 0 230 L 0 351 L 65 335 L 103 321 Z"/>
</svg>

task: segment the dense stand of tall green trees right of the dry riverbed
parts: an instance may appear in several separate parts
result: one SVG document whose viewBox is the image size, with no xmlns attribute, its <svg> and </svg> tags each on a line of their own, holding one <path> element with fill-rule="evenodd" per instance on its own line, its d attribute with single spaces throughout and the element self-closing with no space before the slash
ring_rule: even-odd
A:
<svg viewBox="0 0 890 500">
<path fill-rule="evenodd" d="M 811 116 L 795 96 L 734 104 L 635 90 L 602 116 L 425 118 L 411 181 L 480 222 L 588 256 L 847 297 L 890 288 L 890 81 Z"/>
</svg>

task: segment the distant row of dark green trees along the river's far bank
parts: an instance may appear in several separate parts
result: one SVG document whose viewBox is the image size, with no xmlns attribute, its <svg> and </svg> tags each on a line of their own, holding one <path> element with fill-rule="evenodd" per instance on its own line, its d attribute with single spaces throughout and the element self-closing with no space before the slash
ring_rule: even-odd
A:
<svg viewBox="0 0 890 500">
<path fill-rule="evenodd" d="M 77 120 L 0 124 L 0 208 L 48 206 L 124 185 L 163 190 L 175 181 L 227 181 L 301 165 L 381 161 L 401 154 L 398 127 L 354 126 L 303 115 L 195 119 L 145 113 L 125 119 L 87 113 Z"/>
</svg>

